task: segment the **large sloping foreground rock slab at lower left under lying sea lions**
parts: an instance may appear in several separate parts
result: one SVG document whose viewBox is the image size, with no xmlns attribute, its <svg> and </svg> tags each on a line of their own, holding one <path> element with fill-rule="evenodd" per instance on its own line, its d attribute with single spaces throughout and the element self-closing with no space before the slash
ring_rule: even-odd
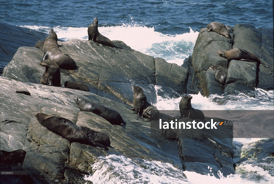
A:
<svg viewBox="0 0 274 184">
<path fill-rule="evenodd" d="M 92 167 L 95 160 L 112 154 L 180 165 L 177 143 L 160 135 L 152 140 L 150 122 L 140 120 L 122 103 L 90 92 L 20 82 L 5 77 L 0 77 L 0 83 L 1 150 L 24 149 L 27 152 L 25 160 L 15 169 L 28 171 L 28 175 L 22 175 L 22 178 L 10 178 L 12 181 L 5 178 L 3 182 L 86 183 L 83 177 L 96 170 Z M 16 93 L 18 90 L 25 93 Z M 118 111 L 127 122 L 126 129 L 111 125 L 94 113 L 80 112 L 73 100 L 74 96 Z M 110 137 L 112 148 L 102 151 L 86 144 L 70 143 L 43 127 L 34 116 L 39 112 L 64 117 L 77 126 L 104 132 Z M 12 165 L 1 164 L 1 169 L 9 171 L 14 168 Z"/>
</svg>

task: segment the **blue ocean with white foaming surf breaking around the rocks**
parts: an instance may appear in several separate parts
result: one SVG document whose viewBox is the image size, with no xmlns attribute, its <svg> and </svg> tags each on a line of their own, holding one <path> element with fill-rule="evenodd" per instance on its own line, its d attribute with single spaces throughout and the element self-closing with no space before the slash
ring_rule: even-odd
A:
<svg viewBox="0 0 274 184">
<path fill-rule="evenodd" d="M 273 28 L 270 0 L 0 1 L 2 22 L 44 33 L 53 28 L 58 38 L 65 41 L 87 40 L 87 27 L 95 17 L 98 17 L 99 32 L 110 40 L 121 40 L 137 51 L 179 66 L 192 55 L 199 30 L 209 22 Z M 155 89 L 161 90 L 159 86 Z M 273 90 L 256 89 L 255 93 L 256 98 L 245 94 L 206 98 L 196 94 L 191 102 L 201 110 L 274 109 Z M 154 105 L 159 110 L 178 110 L 180 99 L 158 96 Z M 240 155 L 244 144 L 257 140 L 260 139 L 234 139 L 234 155 Z M 93 168 L 93 174 L 85 178 L 93 183 L 274 183 L 274 176 L 256 162 L 243 163 L 241 172 L 226 178 L 221 173 L 216 177 L 201 175 L 168 163 L 131 160 L 121 155 L 102 157 Z M 183 173 L 187 179 L 182 177 Z"/>
</svg>

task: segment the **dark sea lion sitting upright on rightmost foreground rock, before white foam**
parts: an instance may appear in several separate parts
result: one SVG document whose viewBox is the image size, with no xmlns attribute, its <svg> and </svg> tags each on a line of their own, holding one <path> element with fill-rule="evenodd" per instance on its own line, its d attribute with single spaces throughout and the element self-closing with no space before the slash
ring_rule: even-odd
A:
<svg viewBox="0 0 274 184">
<path fill-rule="evenodd" d="M 205 115 L 203 114 L 203 112 L 199 109 L 194 109 L 191 106 L 191 99 L 192 96 L 189 94 L 185 94 L 182 96 L 182 99 L 179 103 L 179 109 L 181 114 L 180 118 L 188 117 L 191 121 L 193 121 L 193 119 L 205 120 Z"/>
</svg>

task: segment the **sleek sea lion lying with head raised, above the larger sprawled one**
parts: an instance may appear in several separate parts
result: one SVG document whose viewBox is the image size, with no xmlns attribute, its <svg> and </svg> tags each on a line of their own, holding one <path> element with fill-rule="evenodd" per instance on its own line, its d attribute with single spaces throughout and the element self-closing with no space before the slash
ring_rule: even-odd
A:
<svg viewBox="0 0 274 184">
<path fill-rule="evenodd" d="M 126 122 L 116 110 L 107 108 L 103 105 L 88 102 L 87 100 L 78 97 L 74 97 L 74 101 L 78 105 L 80 111 L 95 113 L 110 122 L 110 124 L 121 125 L 125 129 Z"/>
</svg>

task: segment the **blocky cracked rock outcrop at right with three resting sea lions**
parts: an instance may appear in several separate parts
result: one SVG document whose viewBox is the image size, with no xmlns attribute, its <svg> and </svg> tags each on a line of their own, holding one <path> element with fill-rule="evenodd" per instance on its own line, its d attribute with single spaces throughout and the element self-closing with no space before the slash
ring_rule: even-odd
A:
<svg viewBox="0 0 274 184">
<path fill-rule="evenodd" d="M 233 27 L 233 33 L 230 33 L 230 39 L 215 32 L 201 33 L 206 30 L 207 28 L 200 30 L 191 61 L 188 61 L 192 65 L 189 65 L 189 73 L 194 70 L 200 84 L 195 82 L 196 85 L 188 85 L 190 90 L 187 88 L 187 91 L 198 88 L 194 90 L 197 93 L 201 86 L 202 94 L 206 97 L 211 94 L 239 93 L 253 96 L 255 88 L 273 89 L 273 29 L 256 29 L 251 25 L 237 24 Z M 256 62 L 229 61 L 217 53 L 233 48 L 245 49 L 255 54 L 270 69 Z M 210 71 L 209 67 L 213 65 L 227 68 L 224 86 L 215 79 L 214 72 Z"/>
</svg>

